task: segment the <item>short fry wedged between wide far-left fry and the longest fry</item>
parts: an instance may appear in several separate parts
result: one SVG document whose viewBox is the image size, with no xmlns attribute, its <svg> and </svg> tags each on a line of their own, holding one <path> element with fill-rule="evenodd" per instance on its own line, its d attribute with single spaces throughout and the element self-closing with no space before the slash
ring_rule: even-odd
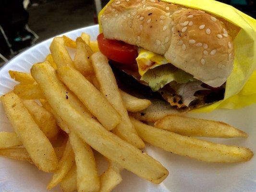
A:
<svg viewBox="0 0 256 192">
<path fill-rule="evenodd" d="M 50 112 L 33 100 L 24 100 L 23 105 L 48 139 L 53 139 L 57 136 L 60 129 Z"/>
</svg>

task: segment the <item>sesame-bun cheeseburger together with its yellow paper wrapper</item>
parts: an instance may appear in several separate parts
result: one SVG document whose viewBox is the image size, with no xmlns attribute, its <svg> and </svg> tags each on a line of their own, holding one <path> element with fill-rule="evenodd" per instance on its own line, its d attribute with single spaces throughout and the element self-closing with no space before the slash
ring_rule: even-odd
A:
<svg viewBox="0 0 256 192">
<path fill-rule="evenodd" d="M 99 24 L 98 47 L 130 92 L 163 99 L 178 110 L 256 102 L 256 21 L 232 6 L 213 0 L 110 0 Z"/>
</svg>

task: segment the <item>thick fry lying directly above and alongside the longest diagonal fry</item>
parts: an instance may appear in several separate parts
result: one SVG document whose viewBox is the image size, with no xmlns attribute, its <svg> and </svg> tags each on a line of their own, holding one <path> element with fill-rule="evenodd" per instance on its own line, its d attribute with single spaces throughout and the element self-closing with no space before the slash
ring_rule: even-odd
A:
<svg viewBox="0 0 256 192">
<path fill-rule="evenodd" d="M 73 91 L 107 130 L 112 130 L 120 123 L 121 117 L 118 112 L 80 72 L 68 66 L 59 68 L 57 72 L 61 81 Z"/>
</svg>

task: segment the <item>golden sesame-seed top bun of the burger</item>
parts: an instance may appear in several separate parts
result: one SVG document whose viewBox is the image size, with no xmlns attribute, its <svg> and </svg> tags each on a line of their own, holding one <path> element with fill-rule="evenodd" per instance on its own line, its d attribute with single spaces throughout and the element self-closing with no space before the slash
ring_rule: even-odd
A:
<svg viewBox="0 0 256 192">
<path fill-rule="evenodd" d="M 229 26 L 204 11 L 158 0 L 115 0 L 100 19 L 106 38 L 164 55 L 212 87 L 224 84 L 232 71 Z"/>
</svg>

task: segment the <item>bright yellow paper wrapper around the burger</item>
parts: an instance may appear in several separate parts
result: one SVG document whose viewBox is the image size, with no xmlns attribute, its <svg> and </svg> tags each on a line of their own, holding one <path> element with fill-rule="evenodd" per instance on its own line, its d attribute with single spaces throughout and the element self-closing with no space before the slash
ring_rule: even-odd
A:
<svg viewBox="0 0 256 192">
<path fill-rule="evenodd" d="M 110 0 L 106 6 L 113 1 Z M 216 108 L 242 108 L 256 103 L 256 20 L 230 5 L 215 0 L 161 1 L 212 13 L 241 28 L 233 39 L 234 68 L 226 82 L 224 99 L 193 111 L 209 112 Z M 100 15 L 102 15 L 106 6 L 98 15 L 100 32 Z"/>
</svg>

